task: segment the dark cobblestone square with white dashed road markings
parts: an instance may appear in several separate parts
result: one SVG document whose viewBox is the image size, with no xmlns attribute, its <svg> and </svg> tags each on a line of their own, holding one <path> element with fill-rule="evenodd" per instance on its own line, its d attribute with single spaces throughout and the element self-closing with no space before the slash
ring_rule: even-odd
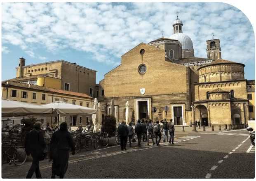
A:
<svg viewBox="0 0 256 181">
<path fill-rule="evenodd" d="M 138 147 L 135 142 L 127 146 L 127 151 L 114 145 L 70 154 L 64 179 L 255 178 L 255 147 L 251 147 L 246 130 L 191 132 L 188 128 L 175 132 L 174 144 L 160 142 L 158 147 L 151 142 Z M 51 177 L 51 163 L 40 162 L 44 179 Z M 25 179 L 30 166 L 31 162 L 4 164 L 2 178 Z"/>
</svg>

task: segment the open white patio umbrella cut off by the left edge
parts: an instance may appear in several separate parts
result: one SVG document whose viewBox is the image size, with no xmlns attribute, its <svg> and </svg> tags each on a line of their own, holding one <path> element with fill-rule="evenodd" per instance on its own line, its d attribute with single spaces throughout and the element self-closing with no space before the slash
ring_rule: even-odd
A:
<svg viewBox="0 0 256 181">
<path fill-rule="evenodd" d="M 52 108 L 1 98 L 1 117 L 51 114 Z"/>
</svg>

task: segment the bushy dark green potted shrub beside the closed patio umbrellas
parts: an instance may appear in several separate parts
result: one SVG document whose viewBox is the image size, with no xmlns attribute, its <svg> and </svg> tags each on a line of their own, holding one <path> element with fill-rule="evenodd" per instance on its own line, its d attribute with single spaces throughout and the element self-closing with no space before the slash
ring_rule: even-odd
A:
<svg viewBox="0 0 256 181">
<path fill-rule="evenodd" d="M 115 144 L 116 120 L 112 115 L 104 116 L 101 131 L 108 133 L 108 145 Z"/>
</svg>

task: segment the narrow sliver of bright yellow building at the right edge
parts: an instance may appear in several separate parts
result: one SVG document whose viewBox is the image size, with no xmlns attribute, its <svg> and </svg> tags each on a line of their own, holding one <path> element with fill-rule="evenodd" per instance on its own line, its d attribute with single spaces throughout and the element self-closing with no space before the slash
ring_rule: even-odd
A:
<svg viewBox="0 0 256 181">
<path fill-rule="evenodd" d="M 247 80 L 249 120 L 255 120 L 255 80 Z"/>
</svg>

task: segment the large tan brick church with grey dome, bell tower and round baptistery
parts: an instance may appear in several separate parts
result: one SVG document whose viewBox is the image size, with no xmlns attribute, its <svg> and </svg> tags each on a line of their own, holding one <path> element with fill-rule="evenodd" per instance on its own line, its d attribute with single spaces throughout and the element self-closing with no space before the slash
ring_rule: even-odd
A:
<svg viewBox="0 0 256 181">
<path fill-rule="evenodd" d="M 96 85 L 103 114 L 108 114 L 114 99 L 117 122 L 126 119 L 129 101 L 135 120 L 148 116 L 189 125 L 195 114 L 195 120 L 205 126 L 247 123 L 244 64 L 221 59 L 219 39 L 207 40 L 208 58 L 194 57 L 193 43 L 182 33 L 182 25 L 177 18 L 175 36 L 139 44 L 122 55 L 120 66 L 104 75 Z M 153 107 L 157 112 L 151 112 Z"/>
</svg>

